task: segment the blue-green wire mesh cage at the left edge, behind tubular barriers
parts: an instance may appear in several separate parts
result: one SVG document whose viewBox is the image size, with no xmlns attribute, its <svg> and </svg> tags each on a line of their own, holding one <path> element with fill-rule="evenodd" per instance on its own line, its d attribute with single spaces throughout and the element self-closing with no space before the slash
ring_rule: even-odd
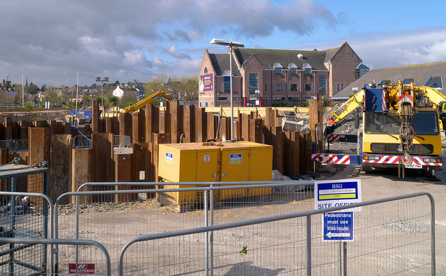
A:
<svg viewBox="0 0 446 276">
<path fill-rule="evenodd" d="M 15 169 L 10 170 L 8 169 Z M 47 170 L 7 165 L 0 170 L 0 238 L 48 238 Z M 0 243 L 1 275 L 36 275 L 49 266 L 47 245 Z"/>
</svg>

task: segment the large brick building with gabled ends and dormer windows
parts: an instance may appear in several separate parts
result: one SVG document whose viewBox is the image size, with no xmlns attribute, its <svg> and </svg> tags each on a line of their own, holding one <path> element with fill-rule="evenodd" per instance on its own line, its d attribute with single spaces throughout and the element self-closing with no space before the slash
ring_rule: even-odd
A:
<svg viewBox="0 0 446 276">
<path fill-rule="evenodd" d="M 318 51 L 233 48 L 233 105 L 303 105 L 316 93 L 333 97 L 368 68 L 353 49 Z M 199 106 L 230 105 L 229 49 L 205 50 L 199 72 Z"/>
</svg>

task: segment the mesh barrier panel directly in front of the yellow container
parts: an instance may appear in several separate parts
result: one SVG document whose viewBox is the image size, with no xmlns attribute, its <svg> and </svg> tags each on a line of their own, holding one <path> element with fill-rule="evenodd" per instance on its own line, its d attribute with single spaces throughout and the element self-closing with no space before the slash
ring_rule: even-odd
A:
<svg viewBox="0 0 446 276">
<path fill-rule="evenodd" d="M 183 185 L 172 183 L 173 185 L 164 186 L 165 188 L 172 187 L 169 189 L 140 190 L 137 192 L 126 191 L 125 189 L 162 183 L 91 184 L 97 186 L 87 186 L 84 189 L 107 189 L 109 191 L 104 191 L 103 194 L 94 191 L 81 192 L 83 194 L 79 195 L 78 199 L 78 224 L 76 223 L 75 196 L 71 195 L 73 193 L 61 196 L 59 199 L 67 196 L 71 197 L 72 204 L 64 206 L 56 204 L 58 208 L 58 236 L 56 238 L 98 240 L 107 247 L 112 263 L 116 263 L 118 253 L 128 240 L 148 233 L 178 231 L 314 208 L 311 199 L 314 181 L 305 181 L 305 183 L 298 183 L 297 181 L 275 184 L 263 183 L 257 188 L 250 189 L 250 191 L 247 187 L 256 186 L 239 185 L 239 187 L 233 187 L 232 189 L 229 189 L 229 187 L 212 187 L 212 189 L 215 189 L 213 198 L 215 208 L 211 208 L 213 205 L 203 204 L 206 198 L 204 197 L 204 190 L 210 189 L 210 187 L 203 187 L 201 185 L 203 183 L 199 183 L 200 185 L 197 185 L 197 183 L 183 183 Z M 98 185 L 106 185 L 106 187 L 99 188 Z M 178 186 L 184 188 L 178 188 Z M 121 191 L 118 194 L 118 191 L 110 189 L 120 189 Z M 155 198 L 148 197 L 148 194 L 155 194 L 155 192 Z M 211 192 L 208 191 L 206 194 L 208 194 L 207 199 L 210 202 Z M 220 199 L 217 194 L 224 195 L 224 197 Z M 208 217 L 205 216 L 205 209 L 208 210 Z M 211 210 L 213 210 L 213 215 Z M 178 213 L 178 211 L 181 212 Z M 75 231 L 75 229 L 78 229 L 78 231 Z"/>
</svg>

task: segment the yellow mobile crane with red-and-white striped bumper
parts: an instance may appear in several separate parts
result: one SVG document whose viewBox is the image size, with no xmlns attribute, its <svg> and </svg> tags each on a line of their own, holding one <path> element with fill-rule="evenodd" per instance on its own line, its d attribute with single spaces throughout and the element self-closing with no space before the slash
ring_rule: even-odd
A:
<svg viewBox="0 0 446 276">
<path fill-rule="evenodd" d="M 358 155 L 317 153 L 312 160 L 323 164 L 362 164 L 433 171 L 443 165 L 439 121 L 446 123 L 446 97 L 426 86 L 415 84 L 365 85 L 328 121 L 338 123 L 363 104 L 362 135 Z M 435 105 L 435 107 L 434 107 Z M 339 112 L 338 112 L 339 111 Z M 440 112 L 440 114 L 439 114 Z"/>
</svg>

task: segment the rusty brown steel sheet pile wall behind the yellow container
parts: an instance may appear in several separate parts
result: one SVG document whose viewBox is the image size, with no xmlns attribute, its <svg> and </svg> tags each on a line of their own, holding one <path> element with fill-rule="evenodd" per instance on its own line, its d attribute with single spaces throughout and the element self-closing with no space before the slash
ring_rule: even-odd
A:
<svg viewBox="0 0 446 276">
<path fill-rule="evenodd" d="M 267 107 L 264 119 L 257 111 L 237 112 L 234 138 L 272 145 L 273 169 L 282 174 L 307 174 L 314 166 L 310 160 L 312 141 L 318 138 L 314 129 L 322 120 L 321 99 L 309 103 L 309 133 L 282 131 L 277 109 Z M 133 114 L 107 118 L 101 118 L 98 101 L 92 101 L 91 109 L 91 124 L 78 128 L 60 121 L 15 122 L 3 117 L 0 140 L 28 139 L 29 151 L 1 152 L 0 163 L 15 157 L 22 158 L 24 164 L 49 161 L 50 195 L 55 200 L 59 194 L 89 181 L 158 181 L 158 144 L 222 141 L 231 137 L 231 119 L 226 114 L 206 113 L 205 108 L 182 106 L 178 101 L 168 101 L 164 111 L 146 105 Z M 127 135 L 133 146 L 125 153 L 114 153 L 113 135 Z M 72 148 L 75 136 L 91 137 L 91 148 Z M 124 159 L 121 154 L 128 156 Z M 120 167 L 121 163 L 125 169 Z"/>
</svg>

